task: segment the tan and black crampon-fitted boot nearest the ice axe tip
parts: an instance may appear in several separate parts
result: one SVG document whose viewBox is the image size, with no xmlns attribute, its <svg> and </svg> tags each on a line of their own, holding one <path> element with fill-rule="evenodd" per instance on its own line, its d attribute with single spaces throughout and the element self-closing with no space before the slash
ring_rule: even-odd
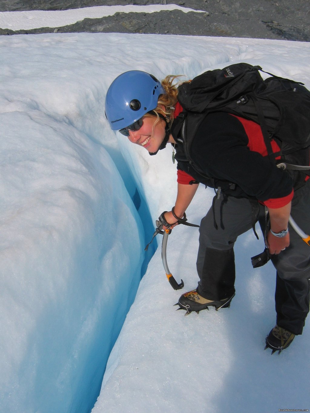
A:
<svg viewBox="0 0 310 413">
<path fill-rule="evenodd" d="M 232 295 L 230 298 L 225 298 L 223 300 L 212 301 L 204 297 L 201 297 L 201 295 L 198 294 L 197 290 L 192 290 L 182 294 L 179 298 L 179 301 L 175 305 L 180 306 L 178 310 L 186 310 L 186 314 L 189 314 L 192 311 L 196 311 L 196 313 L 199 313 L 200 310 L 208 309 L 208 307 L 210 306 L 215 307 L 215 309 L 218 310 L 221 308 L 229 307 L 234 295 Z"/>
</svg>

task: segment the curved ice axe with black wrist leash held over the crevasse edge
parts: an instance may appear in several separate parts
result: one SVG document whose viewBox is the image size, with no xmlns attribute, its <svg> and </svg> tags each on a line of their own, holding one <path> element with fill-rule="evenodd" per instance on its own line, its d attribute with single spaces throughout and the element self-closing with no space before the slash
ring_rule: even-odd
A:
<svg viewBox="0 0 310 413">
<path fill-rule="evenodd" d="M 145 251 L 148 250 L 148 246 L 150 245 L 150 243 L 153 241 L 153 239 L 156 237 L 157 234 L 162 234 L 162 264 L 164 266 L 165 269 L 165 273 L 166 276 L 168 278 L 168 281 L 170 283 L 170 285 L 172 286 L 172 288 L 174 290 L 181 290 L 181 288 L 184 287 L 184 282 L 183 280 L 181 280 L 180 284 L 178 284 L 174 278 L 174 276 L 172 275 L 172 273 L 169 270 L 168 264 L 167 264 L 167 241 L 168 241 L 168 235 L 171 233 L 171 229 L 170 226 L 171 224 L 167 223 L 166 219 L 165 219 L 165 213 L 167 211 L 164 211 L 162 214 L 160 214 L 160 217 L 158 218 L 158 220 L 156 220 L 156 230 L 155 233 L 153 234 L 153 238 L 152 240 L 147 244 L 147 246 L 145 247 Z M 183 218 L 179 218 L 178 216 L 176 216 L 174 214 L 174 207 L 172 208 L 172 214 L 174 216 L 174 218 L 177 219 L 177 222 L 179 224 L 183 224 L 183 225 L 188 225 L 191 227 L 198 227 L 199 225 L 196 224 L 191 224 L 189 222 L 186 222 L 186 214 L 184 213 L 184 217 Z M 167 229 L 163 230 L 163 226 L 165 226 Z"/>
</svg>

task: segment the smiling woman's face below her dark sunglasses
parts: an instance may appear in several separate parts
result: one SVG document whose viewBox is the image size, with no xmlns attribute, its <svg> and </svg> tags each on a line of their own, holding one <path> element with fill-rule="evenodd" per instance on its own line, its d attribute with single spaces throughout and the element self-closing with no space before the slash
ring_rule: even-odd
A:
<svg viewBox="0 0 310 413">
<path fill-rule="evenodd" d="M 156 119 L 156 116 L 143 117 L 143 125 L 138 131 L 129 130 L 128 139 L 130 142 L 143 146 L 148 152 L 157 152 L 165 138 L 166 122 L 159 119 L 159 122 L 154 126 Z"/>
</svg>

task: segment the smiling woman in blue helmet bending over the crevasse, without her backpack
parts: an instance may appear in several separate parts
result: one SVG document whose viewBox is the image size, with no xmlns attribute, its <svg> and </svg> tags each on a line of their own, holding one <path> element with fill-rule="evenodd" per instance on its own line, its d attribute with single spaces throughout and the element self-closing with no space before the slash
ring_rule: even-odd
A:
<svg viewBox="0 0 310 413">
<path fill-rule="evenodd" d="M 105 111 L 112 130 L 151 155 L 167 143 L 176 150 L 178 192 L 174 208 L 165 213 L 166 227 L 178 224 L 199 183 L 217 190 L 200 225 L 200 281 L 196 290 L 181 295 L 179 306 L 188 312 L 230 306 L 235 295 L 234 242 L 259 221 L 277 269 L 277 325 L 266 337 L 266 348 L 281 351 L 302 333 L 309 312 L 309 247 L 288 228 L 292 210 L 294 219 L 310 231 L 309 185 L 294 194 L 289 173 L 267 157 L 260 126 L 225 112 L 203 116 L 193 137 L 190 161 L 180 131 L 183 109 L 175 79 L 167 76 L 160 83 L 142 71 L 125 72 L 111 84 Z"/>
</svg>

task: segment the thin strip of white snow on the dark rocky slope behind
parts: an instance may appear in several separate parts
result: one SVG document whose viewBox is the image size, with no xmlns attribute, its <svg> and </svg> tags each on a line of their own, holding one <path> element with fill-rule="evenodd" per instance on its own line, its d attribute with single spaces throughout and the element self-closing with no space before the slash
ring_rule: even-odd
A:
<svg viewBox="0 0 310 413">
<path fill-rule="evenodd" d="M 31 10 L 24 12 L 0 12 L 0 27 L 10 30 L 30 30 L 40 27 L 62 27 L 74 24 L 77 21 L 89 18 L 113 16 L 117 12 L 122 13 L 154 13 L 161 10 L 181 10 L 184 13 L 205 13 L 203 10 L 194 10 L 175 4 L 167 5 L 126 5 L 126 6 L 97 6 L 83 7 L 69 10 Z"/>
</svg>

